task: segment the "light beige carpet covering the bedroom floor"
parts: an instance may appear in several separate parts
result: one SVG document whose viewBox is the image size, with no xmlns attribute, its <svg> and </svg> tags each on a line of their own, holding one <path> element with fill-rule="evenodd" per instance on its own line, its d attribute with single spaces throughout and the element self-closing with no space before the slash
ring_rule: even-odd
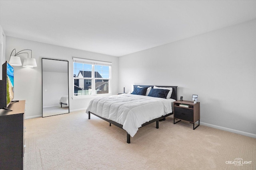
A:
<svg viewBox="0 0 256 170">
<path fill-rule="evenodd" d="M 256 169 L 256 139 L 173 118 L 126 131 L 77 111 L 25 120 L 24 170 Z M 247 164 L 227 164 L 242 158 Z M 251 161 L 251 163 L 250 163 Z M 244 162 L 245 163 L 245 162 Z"/>
</svg>

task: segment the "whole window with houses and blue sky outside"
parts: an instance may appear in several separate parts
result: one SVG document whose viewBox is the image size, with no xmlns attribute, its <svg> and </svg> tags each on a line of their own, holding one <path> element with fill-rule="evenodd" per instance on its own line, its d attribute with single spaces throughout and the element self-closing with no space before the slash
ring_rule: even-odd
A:
<svg viewBox="0 0 256 170">
<path fill-rule="evenodd" d="M 73 58 L 74 96 L 109 94 L 111 64 Z"/>
</svg>

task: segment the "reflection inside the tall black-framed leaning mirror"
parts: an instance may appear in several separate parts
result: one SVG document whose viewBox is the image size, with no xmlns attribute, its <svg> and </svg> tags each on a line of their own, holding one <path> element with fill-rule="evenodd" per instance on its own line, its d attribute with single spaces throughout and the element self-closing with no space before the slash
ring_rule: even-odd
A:
<svg viewBox="0 0 256 170">
<path fill-rule="evenodd" d="M 42 58 L 42 117 L 69 113 L 68 61 Z"/>
</svg>

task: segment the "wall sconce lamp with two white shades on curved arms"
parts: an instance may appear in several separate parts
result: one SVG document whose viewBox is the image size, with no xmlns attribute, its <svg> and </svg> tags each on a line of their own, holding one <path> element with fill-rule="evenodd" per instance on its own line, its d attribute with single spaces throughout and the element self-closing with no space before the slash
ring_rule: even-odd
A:
<svg viewBox="0 0 256 170">
<path fill-rule="evenodd" d="M 29 68 L 33 68 L 33 67 L 37 66 L 36 59 L 32 58 L 32 50 L 24 49 L 24 50 L 19 51 L 18 53 L 16 53 L 16 49 L 13 49 L 12 52 L 14 50 L 15 50 L 15 55 L 12 56 L 12 53 L 10 55 L 10 61 L 9 61 L 10 65 L 21 66 L 22 64 L 21 64 L 21 61 L 20 61 L 20 57 L 18 57 L 17 55 L 22 54 L 21 53 L 22 51 L 29 50 L 29 51 L 31 51 L 31 58 L 28 57 L 27 59 L 25 59 L 22 66 L 23 67 L 29 67 Z M 26 52 L 23 52 L 23 53 L 26 53 Z M 26 54 L 28 54 L 28 53 L 26 53 Z"/>
</svg>

